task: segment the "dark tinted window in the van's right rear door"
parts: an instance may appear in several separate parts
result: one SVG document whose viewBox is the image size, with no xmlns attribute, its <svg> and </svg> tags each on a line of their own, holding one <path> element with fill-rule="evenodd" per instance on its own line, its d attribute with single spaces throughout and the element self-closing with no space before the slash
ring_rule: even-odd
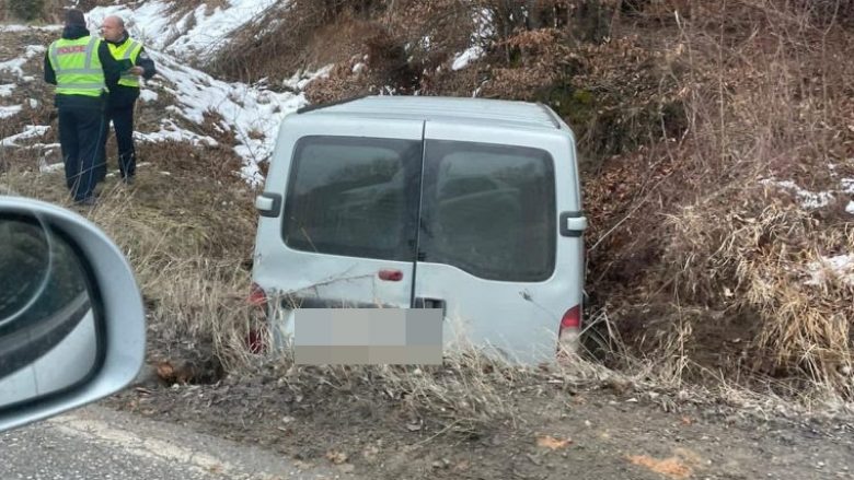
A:
<svg viewBox="0 0 854 480">
<path fill-rule="evenodd" d="M 542 281 L 555 264 L 554 165 L 539 149 L 429 140 L 419 259 L 498 281 Z"/>
</svg>

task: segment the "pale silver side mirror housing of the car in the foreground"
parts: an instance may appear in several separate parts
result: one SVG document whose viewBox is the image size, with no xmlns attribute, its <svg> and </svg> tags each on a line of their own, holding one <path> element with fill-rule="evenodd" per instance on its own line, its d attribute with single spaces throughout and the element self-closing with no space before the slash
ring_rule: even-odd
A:
<svg viewBox="0 0 854 480">
<path fill-rule="evenodd" d="M 97 352 L 97 361 L 82 378 L 73 378 L 68 388 L 46 394 L 16 391 L 13 401 L 0 398 L 0 432 L 57 415 L 124 389 L 139 374 L 146 355 L 142 296 L 130 265 L 106 234 L 72 211 L 23 197 L 0 196 L 0 218 L 4 216 L 35 218 L 73 245 L 77 264 L 88 272 L 92 304 L 89 317 L 94 318 L 96 335 L 77 338 L 66 335 L 54 349 L 65 349 L 66 353 L 77 350 L 80 354 L 85 353 L 83 349 L 91 349 L 90 352 Z M 60 361 L 68 355 L 45 354 L 30 365 L 41 362 L 39 368 L 53 371 L 54 377 L 74 374 L 65 373 L 68 370 Z M 0 351 L 0 362 L 3 360 Z M 3 382 L 11 376 L 0 378 L 0 395 Z"/>
</svg>

